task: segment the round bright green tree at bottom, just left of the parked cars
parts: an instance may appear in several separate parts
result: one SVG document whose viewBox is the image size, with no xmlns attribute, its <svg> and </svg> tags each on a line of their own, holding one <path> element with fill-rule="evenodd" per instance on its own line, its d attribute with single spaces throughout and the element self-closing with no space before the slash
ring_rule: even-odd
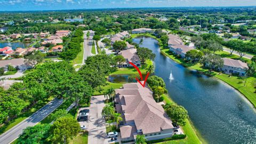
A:
<svg viewBox="0 0 256 144">
<path fill-rule="evenodd" d="M 68 139 L 75 137 L 80 125 L 73 117 L 60 117 L 50 128 L 50 139 L 54 142 L 68 143 Z"/>
</svg>

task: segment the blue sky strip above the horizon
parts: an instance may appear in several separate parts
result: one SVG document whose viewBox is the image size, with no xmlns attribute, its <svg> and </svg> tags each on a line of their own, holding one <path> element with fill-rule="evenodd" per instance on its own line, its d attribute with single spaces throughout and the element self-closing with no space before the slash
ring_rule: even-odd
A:
<svg viewBox="0 0 256 144">
<path fill-rule="evenodd" d="M 0 11 L 179 6 L 256 6 L 256 0 L 0 0 Z"/>
</svg>

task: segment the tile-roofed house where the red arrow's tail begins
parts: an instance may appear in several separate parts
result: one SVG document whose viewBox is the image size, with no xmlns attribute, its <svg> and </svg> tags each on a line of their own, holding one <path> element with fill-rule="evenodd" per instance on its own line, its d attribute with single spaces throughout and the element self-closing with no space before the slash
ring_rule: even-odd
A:
<svg viewBox="0 0 256 144">
<path fill-rule="evenodd" d="M 140 67 L 141 66 L 140 58 L 136 53 L 137 53 L 137 49 L 128 49 L 128 50 L 119 52 L 119 54 L 123 55 L 123 57 L 126 60 L 125 62 L 122 63 L 121 67 L 124 67 L 124 68 L 133 67 L 132 65 L 130 65 L 129 62 L 132 62 L 137 67 Z"/>
</svg>

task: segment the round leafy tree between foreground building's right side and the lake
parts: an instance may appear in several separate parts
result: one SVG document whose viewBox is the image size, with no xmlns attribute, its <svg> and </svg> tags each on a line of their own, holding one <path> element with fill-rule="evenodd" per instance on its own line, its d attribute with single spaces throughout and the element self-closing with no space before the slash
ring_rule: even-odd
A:
<svg viewBox="0 0 256 144">
<path fill-rule="evenodd" d="M 185 125 L 186 124 L 186 119 L 188 118 L 188 111 L 178 105 L 169 105 L 169 107 L 166 108 L 166 113 L 169 115 L 174 121 L 175 126 L 177 126 L 177 123 L 180 125 Z"/>
</svg>

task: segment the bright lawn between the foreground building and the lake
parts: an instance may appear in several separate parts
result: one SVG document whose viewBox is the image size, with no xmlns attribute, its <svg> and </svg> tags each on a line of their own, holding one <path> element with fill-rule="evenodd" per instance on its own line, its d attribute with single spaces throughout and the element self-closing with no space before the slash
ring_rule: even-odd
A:
<svg viewBox="0 0 256 144">
<path fill-rule="evenodd" d="M 169 95 L 163 94 L 162 95 L 164 97 L 164 101 L 166 103 L 175 103 L 172 101 L 172 99 L 169 97 Z M 187 135 L 186 139 L 181 139 L 181 140 L 171 140 L 171 141 L 165 141 L 165 142 L 159 142 L 159 143 L 163 143 L 163 144 L 171 144 L 171 143 L 202 143 L 199 138 L 198 135 L 199 133 L 196 133 L 196 130 L 194 129 L 193 125 L 191 124 L 191 122 L 187 119 L 186 120 L 186 125 L 181 127 L 183 132 Z M 201 137 L 199 135 L 199 137 Z"/>
</svg>

